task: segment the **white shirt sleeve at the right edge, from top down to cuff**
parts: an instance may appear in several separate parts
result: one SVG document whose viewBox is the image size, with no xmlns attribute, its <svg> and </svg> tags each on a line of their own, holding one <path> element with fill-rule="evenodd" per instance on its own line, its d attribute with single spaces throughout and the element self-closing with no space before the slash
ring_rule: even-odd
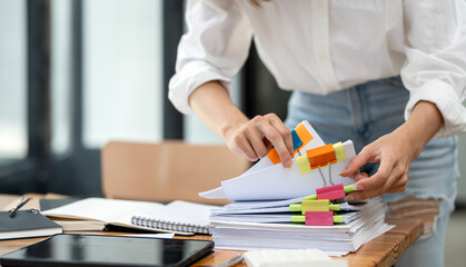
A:
<svg viewBox="0 0 466 267">
<path fill-rule="evenodd" d="M 401 78 L 409 90 L 406 119 L 420 100 L 434 102 L 445 125 L 435 137 L 466 132 L 466 2 L 405 0 L 406 56 Z"/>
</svg>

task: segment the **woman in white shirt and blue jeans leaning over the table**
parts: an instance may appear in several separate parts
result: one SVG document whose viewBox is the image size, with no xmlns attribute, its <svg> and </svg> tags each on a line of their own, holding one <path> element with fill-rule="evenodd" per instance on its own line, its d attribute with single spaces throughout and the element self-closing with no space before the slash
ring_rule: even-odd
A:
<svg viewBox="0 0 466 267">
<path fill-rule="evenodd" d="M 397 266 L 443 266 L 453 136 L 466 131 L 464 0 L 192 0 L 186 20 L 169 92 L 180 111 L 249 160 L 274 146 L 285 168 L 288 128 L 303 119 L 326 142 L 351 139 L 360 152 L 341 172 L 357 181 L 349 198 L 385 194 L 391 216 L 425 220 Z M 252 38 L 279 87 L 294 90 L 288 127 L 272 113 L 249 119 L 230 100 Z"/>
</svg>

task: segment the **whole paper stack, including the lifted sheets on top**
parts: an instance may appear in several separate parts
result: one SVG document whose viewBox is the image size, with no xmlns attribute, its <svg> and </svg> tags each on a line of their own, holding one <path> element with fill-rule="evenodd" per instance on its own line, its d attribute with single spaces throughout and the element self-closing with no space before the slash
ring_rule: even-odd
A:
<svg viewBox="0 0 466 267">
<path fill-rule="evenodd" d="M 340 256 L 356 251 L 366 241 L 391 228 L 385 224 L 380 198 L 364 202 L 333 200 L 330 205 L 337 207 L 333 210 L 338 210 L 334 216 L 331 212 L 329 215 L 330 220 L 334 218 L 336 221 L 333 226 L 305 225 L 304 218 L 308 212 L 296 212 L 291 206 L 299 206 L 319 188 L 339 184 L 345 189 L 348 186 L 350 188 L 354 180 L 338 174 L 356 154 L 353 142 L 348 140 L 340 145 L 344 160 L 340 158 L 328 165 L 319 165 L 318 168 L 313 166 L 313 171 L 303 171 L 296 158 L 325 144 L 307 121 L 298 127 L 301 127 L 299 138 L 303 136 L 303 127 L 310 138 L 298 140 L 301 144 L 295 146 L 296 156 L 291 169 L 285 169 L 274 157 L 268 156 L 240 177 L 222 181 L 221 187 L 199 194 L 206 198 L 228 198 L 234 201 L 210 211 L 210 233 L 216 248 L 317 248 L 330 256 Z"/>
</svg>

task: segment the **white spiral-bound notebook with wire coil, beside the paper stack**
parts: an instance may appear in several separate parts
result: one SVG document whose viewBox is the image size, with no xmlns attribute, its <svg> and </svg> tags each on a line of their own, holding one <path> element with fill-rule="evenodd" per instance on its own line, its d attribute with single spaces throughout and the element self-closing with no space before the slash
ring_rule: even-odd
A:
<svg viewBox="0 0 466 267">
<path fill-rule="evenodd" d="M 172 231 L 209 234 L 211 208 L 218 207 L 176 200 L 160 209 L 132 216 L 131 224 Z"/>
</svg>

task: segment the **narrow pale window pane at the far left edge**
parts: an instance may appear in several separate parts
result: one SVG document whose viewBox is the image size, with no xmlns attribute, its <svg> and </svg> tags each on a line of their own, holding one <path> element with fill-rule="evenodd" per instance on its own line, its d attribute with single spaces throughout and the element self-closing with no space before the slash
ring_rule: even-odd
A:
<svg viewBox="0 0 466 267">
<path fill-rule="evenodd" d="M 28 154 L 26 1 L 0 1 L 0 162 Z"/>
</svg>

